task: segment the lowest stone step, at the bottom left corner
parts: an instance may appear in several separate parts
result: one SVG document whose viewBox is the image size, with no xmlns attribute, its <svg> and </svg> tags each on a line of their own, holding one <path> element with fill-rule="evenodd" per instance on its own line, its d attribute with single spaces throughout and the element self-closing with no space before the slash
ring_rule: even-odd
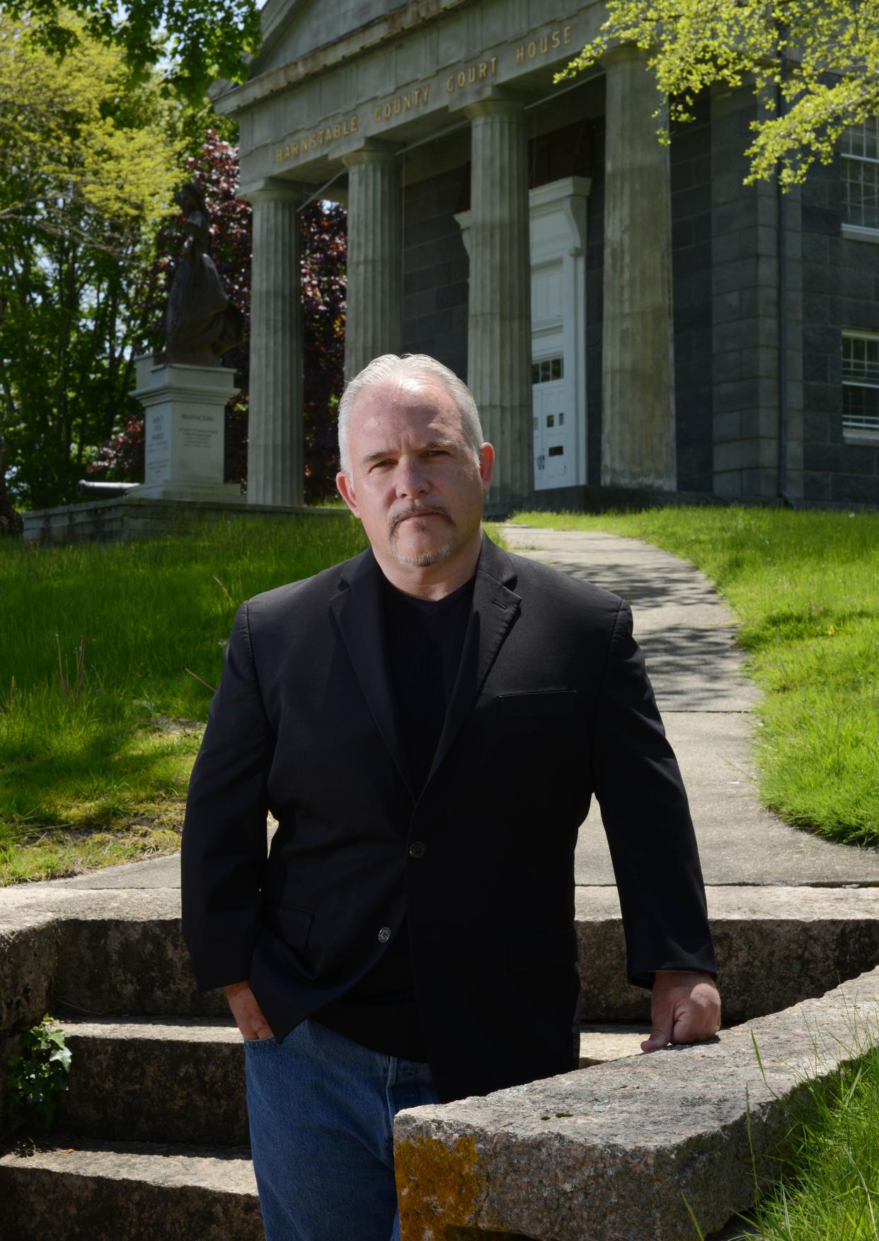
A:
<svg viewBox="0 0 879 1241">
<path fill-rule="evenodd" d="M 71 1137 L 0 1157 L 4 1241 L 264 1241 L 247 1150 Z"/>
</svg>

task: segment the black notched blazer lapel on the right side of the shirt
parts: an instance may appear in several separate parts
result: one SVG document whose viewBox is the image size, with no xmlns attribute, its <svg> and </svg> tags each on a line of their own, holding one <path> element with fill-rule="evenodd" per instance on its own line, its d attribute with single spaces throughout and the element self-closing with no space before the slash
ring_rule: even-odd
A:
<svg viewBox="0 0 879 1241">
<path fill-rule="evenodd" d="M 483 535 L 482 552 L 473 583 L 473 609 L 464 634 L 458 675 L 452 689 L 446 722 L 440 733 L 427 784 L 451 750 L 510 625 L 519 614 L 521 599 L 505 585 L 514 581 L 513 561 Z"/>
</svg>

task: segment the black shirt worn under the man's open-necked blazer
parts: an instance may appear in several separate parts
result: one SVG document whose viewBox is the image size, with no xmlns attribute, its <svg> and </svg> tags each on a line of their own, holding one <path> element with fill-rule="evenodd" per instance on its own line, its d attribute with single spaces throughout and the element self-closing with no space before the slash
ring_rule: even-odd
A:
<svg viewBox="0 0 879 1241">
<path fill-rule="evenodd" d="M 421 793 L 433 762 L 461 664 L 473 580 L 432 602 L 385 580 L 382 627 L 391 692 L 405 745 L 408 784 Z M 401 841 L 401 848 L 403 844 Z M 406 922 L 372 969 L 314 1014 L 315 1020 L 385 1056 L 427 1060 L 412 983 Z"/>
</svg>

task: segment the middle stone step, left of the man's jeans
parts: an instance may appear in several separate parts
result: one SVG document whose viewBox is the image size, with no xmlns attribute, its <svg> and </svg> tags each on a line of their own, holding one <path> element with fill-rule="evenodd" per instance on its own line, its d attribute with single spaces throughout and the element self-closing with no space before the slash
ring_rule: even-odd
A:
<svg viewBox="0 0 879 1241">
<path fill-rule="evenodd" d="M 71 1071 L 58 1124 L 132 1142 L 247 1145 L 241 1035 L 226 1019 L 60 1018 Z"/>
</svg>

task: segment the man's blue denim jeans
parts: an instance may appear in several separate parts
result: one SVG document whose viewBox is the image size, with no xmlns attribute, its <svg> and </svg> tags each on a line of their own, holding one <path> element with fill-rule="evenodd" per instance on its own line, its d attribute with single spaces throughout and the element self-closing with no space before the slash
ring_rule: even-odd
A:
<svg viewBox="0 0 879 1241">
<path fill-rule="evenodd" d="M 245 1040 L 245 1073 L 266 1241 L 400 1241 L 394 1117 L 438 1102 L 428 1065 L 307 1020 Z"/>
</svg>

